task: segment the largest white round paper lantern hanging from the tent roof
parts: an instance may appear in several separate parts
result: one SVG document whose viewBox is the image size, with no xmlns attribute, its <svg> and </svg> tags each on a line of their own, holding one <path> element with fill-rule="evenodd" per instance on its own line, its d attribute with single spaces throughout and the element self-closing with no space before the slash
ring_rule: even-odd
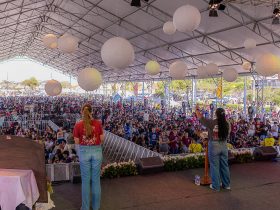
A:
<svg viewBox="0 0 280 210">
<path fill-rule="evenodd" d="M 124 38 L 113 37 L 101 48 L 103 62 L 113 69 L 125 69 L 134 61 L 133 46 Z"/>
</svg>

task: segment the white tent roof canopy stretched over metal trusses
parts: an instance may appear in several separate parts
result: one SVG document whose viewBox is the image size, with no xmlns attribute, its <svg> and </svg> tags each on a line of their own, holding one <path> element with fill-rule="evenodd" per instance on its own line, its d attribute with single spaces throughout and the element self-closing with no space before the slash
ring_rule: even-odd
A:
<svg viewBox="0 0 280 210">
<path fill-rule="evenodd" d="M 239 73 L 245 61 L 255 62 L 266 52 L 280 55 L 280 27 L 272 25 L 272 0 L 225 0 L 225 11 L 209 17 L 208 0 L 149 0 L 131 7 L 131 0 L 3 0 L 0 2 L 0 60 L 27 56 L 65 74 L 77 76 L 85 67 L 102 72 L 107 82 L 168 79 L 169 65 L 175 60 L 187 63 L 189 75 L 207 63 L 216 63 L 221 70 L 234 67 Z M 165 22 L 184 5 L 197 7 L 202 20 L 192 33 L 166 35 Z M 75 53 L 66 54 L 44 47 L 42 37 L 53 33 L 72 34 L 79 39 Z M 127 69 L 113 70 L 100 56 L 103 43 L 121 36 L 134 46 L 134 63 Z M 257 42 L 247 50 L 247 38 Z M 156 60 L 161 73 L 148 75 L 145 64 Z"/>
</svg>

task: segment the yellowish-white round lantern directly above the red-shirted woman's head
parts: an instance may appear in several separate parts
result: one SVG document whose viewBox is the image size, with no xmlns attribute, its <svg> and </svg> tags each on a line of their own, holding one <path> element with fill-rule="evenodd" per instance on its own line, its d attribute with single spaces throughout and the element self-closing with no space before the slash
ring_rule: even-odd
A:
<svg viewBox="0 0 280 210">
<path fill-rule="evenodd" d="M 78 84 L 83 90 L 96 90 L 102 84 L 102 75 L 95 68 L 85 68 L 78 74 Z"/>
</svg>

